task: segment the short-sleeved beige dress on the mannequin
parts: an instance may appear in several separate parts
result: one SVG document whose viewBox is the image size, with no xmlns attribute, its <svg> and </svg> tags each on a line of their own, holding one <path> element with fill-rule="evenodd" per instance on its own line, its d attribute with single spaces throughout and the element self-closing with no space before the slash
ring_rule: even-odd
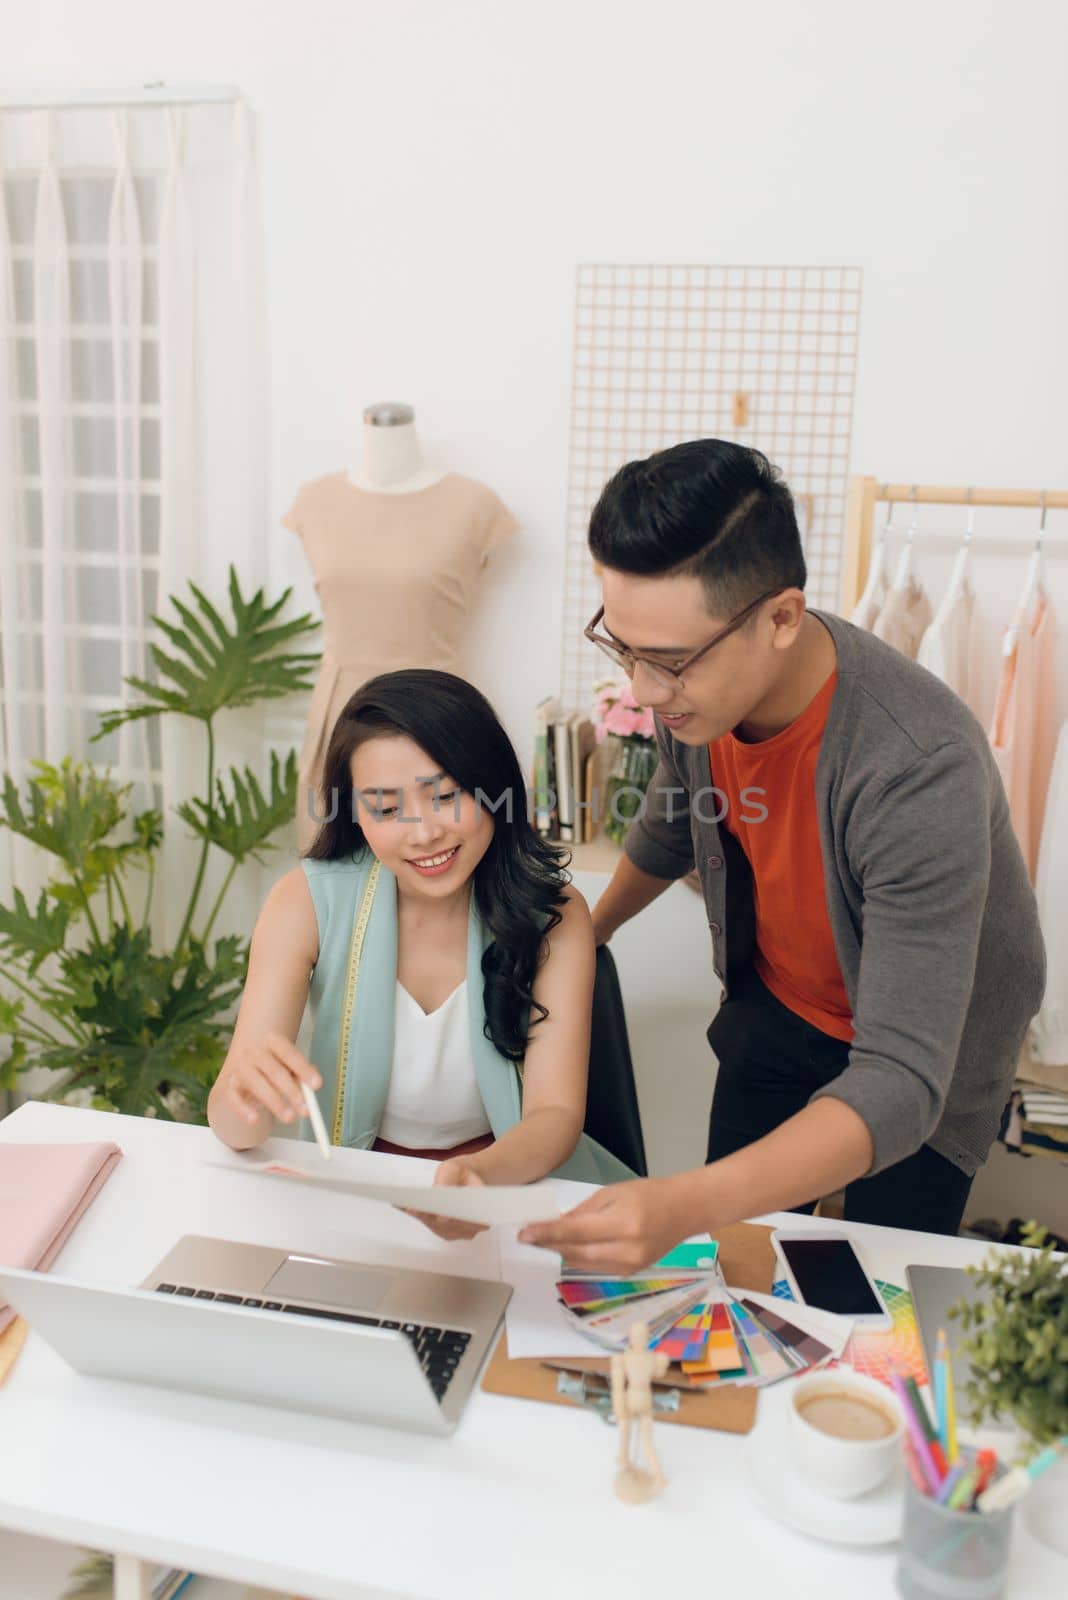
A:
<svg viewBox="0 0 1068 1600">
<path fill-rule="evenodd" d="M 411 494 L 355 488 L 345 472 L 305 483 L 281 518 L 304 546 L 323 608 L 323 662 L 301 750 L 297 838 L 317 822 L 326 744 L 345 701 L 379 672 L 462 672 L 478 574 L 516 520 L 484 483 L 449 472 Z M 321 814 L 321 802 L 315 805 Z"/>
</svg>

